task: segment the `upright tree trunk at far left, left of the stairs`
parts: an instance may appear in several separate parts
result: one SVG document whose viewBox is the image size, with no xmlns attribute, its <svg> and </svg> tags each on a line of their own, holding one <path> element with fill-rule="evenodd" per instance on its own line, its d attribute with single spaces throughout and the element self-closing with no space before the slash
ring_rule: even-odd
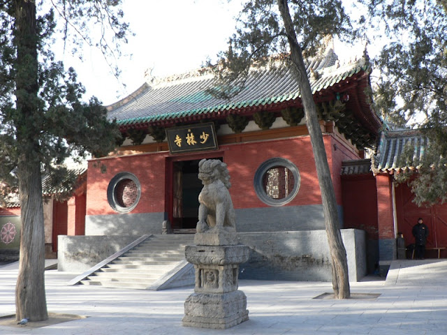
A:
<svg viewBox="0 0 447 335">
<path fill-rule="evenodd" d="M 15 131 L 19 157 L 21 222 L 20 265 L 15 286 L 15 317 L 47 320 L 45 299 L 45 232 L 43 224 L 40 143 L 43 117 L 38 103 L 36 3 L 15 0 L 14 43 L 17 47 Z"/>
</svg>

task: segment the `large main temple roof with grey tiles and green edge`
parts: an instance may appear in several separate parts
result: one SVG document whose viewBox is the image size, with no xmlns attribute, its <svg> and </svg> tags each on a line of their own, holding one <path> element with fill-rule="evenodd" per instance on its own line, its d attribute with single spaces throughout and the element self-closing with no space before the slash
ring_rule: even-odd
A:
<svg viewBox="0 0 447 335">
<path fill-rule="evenodd" d="M 362 59 L 339 66 L 332 50 L 324 59 L 307 65 L 312 92 L 331 87 L 346 78 L 367 71 Z M 315 75 L 316 73 L 316 75 Z M 207 93 L 216 87 L 210 73 L 189 73 L 145 83 L 127 98 L 108 107 L 108 118 L 117 119 L 120 126 L 156 123 L 170 119 L 201 116 L 229 110 L 293 101 L 300 97 L 298 85 L 288 68 L 252 70 L 245 88 L 228 102 Z"/>
</svg>

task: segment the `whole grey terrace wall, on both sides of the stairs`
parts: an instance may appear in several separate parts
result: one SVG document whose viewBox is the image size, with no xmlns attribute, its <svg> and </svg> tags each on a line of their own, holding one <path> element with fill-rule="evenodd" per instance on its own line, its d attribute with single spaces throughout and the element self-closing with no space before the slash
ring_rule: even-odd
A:
<svg viewBox="0 0 447 335">
<path fill-rule="evenodd" d="M 59 236 L 58 269 L 82 273 L 137 239 L 135 235 Z M 240 278 L 278 281 L 332 281 L 325 230 L 296 232 L 240 232 L 250 248 Z M 367 274 L 365 232 L 342 230 L 348 256 L 349 280 Z"/>
</svg>

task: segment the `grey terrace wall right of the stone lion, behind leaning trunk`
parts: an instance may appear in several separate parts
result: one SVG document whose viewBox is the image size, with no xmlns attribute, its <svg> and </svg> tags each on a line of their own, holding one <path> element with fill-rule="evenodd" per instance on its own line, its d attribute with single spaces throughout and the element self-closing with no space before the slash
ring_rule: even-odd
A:
<svg viewBox="0 0 447 335">
<path fill-rule="evenodd" d="M 248 262 L 240 265 L 240 278 L 278 281 L 332 281 L 325 230 L 301 232 L 242 232 L 241 244 L 250 248 Z M 342 230 L 349 281 L 367 274 L 365 232 Z"/>
</svg>

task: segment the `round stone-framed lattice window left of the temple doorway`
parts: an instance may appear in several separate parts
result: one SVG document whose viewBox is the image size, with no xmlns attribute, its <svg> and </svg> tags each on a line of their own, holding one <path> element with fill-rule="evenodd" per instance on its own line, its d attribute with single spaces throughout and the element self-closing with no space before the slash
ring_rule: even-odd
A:
<svg viewBox="0 0 447 335">
<path fill-rule="evenodd" d="M 107 199 L 112 209 L 127 213 L 134 209 L 140 200 L 141 186 L 138 178 L 130 172 L 121 172 L 110 180 Z"/>
</svg>

